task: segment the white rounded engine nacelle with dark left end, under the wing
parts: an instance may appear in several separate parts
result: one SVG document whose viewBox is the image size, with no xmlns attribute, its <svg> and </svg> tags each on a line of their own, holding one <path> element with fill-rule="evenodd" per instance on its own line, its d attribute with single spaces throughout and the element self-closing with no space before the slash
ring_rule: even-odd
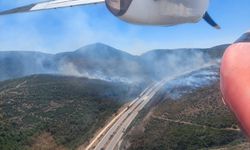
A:
<svg viewBox="0 0 250 150">
<path fill-rule="evenodd" d="M 106 5 L 129 23 L 171 26 L 200 21 L 209 0 L 106 0 Z"/>
</svg>

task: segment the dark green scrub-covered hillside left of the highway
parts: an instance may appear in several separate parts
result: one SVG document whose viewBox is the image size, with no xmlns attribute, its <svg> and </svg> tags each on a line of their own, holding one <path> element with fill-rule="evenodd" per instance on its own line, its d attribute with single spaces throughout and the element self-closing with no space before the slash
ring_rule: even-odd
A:
<svg viewBox="0 0 250 150">
<path fill-rule="evenodd" d="M 34 75 L 0 82 L 0 149 L 74 148 L 131 95 L 127 85 L 76 77 Z"/>
</svg>

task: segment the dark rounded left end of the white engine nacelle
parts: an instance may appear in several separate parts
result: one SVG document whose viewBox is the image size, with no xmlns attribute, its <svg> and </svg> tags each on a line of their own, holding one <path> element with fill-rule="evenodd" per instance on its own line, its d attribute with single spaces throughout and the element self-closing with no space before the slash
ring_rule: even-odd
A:
<svg viewBox="0 0 250 150">
<path fill-rule="evenodd" d="M 108 9 L 115 16 L 122 16 L 125 14 L 131 4 L 132 0 L 106 0 Z"/>
</svg>

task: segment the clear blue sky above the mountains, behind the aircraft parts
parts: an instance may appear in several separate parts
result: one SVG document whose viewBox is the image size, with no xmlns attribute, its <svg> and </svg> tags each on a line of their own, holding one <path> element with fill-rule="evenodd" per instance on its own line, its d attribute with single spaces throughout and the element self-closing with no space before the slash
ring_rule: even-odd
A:
<svg viewBox="0 0 250 150">
<path fill-rule="evenodd" d="M 34 2 L 39 1 L 0 0 L 0 10 Z M 221 30 L 203 20 L 172 27 L 133 25 L 114 17 L 104 4 L 1 16 L 0 51 L 59 53 L 101 42 L 140 55 L 231 43 L 250 30 L 249 0 L 211 0 L 208 12 Z"/>
</svg>

